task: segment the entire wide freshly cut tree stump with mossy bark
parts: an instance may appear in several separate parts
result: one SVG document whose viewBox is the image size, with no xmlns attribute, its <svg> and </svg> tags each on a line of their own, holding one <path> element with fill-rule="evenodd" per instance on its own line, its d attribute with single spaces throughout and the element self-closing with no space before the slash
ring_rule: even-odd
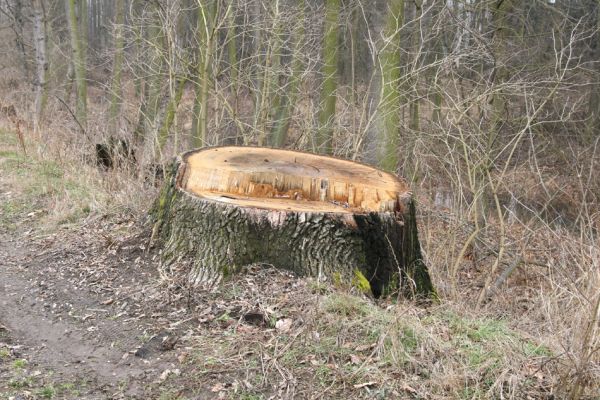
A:
<svg viewBox="0 0 600 400">
<path fill-rule="evenodd" d="M 193 150 L 173 162 L 151 216 L 163 268 L 185 263 L 193 285 L 265 263 L 375 296 L 433 293 L 408 185 L 367 165 L 257 147 Z"/>
</svg>

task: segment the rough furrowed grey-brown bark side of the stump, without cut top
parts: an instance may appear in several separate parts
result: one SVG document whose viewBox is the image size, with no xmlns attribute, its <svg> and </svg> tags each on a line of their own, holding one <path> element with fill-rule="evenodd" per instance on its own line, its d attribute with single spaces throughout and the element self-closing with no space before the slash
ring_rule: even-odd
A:
<svg viewBox="0 0 600 400">
<path fill-rule="evenodd" d="M 410 193 L 394 212 L 240 206 L 184 190 L 189 154 L 173 163 L 151 211 L 166 270 L 186 263 L 192 284 L 214 287 L 244 265 L 267 263 L 375 296 L 433 294 Z"/>
</svg>

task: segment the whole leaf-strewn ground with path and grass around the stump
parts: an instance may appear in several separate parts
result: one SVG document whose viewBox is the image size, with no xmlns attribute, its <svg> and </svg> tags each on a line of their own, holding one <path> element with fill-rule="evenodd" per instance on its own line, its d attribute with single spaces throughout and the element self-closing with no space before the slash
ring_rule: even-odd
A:
<svg viewBox="0 0 600 400">
<path fill-rule="evenodd" d="M 554 350 L 461 304 L 266 265 L 178 287 L 144 212 L 82 206 L 61 168 L 0 132 L 0 399 L 554 398 Z"/>
</svg>

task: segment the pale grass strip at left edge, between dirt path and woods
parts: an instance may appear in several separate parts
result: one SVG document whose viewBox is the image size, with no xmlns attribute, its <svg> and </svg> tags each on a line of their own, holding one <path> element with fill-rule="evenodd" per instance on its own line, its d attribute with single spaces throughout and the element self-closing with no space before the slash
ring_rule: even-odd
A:
<svg viewBox="0 0 600 400">
<path fill-rule="evenodd" d="M 0 174 L 9 193 L 0 202 L 0 226 L 16 230 L 35 221 L 45 230 L 78 224 L 91 213 L 119 214 L 145 207 L 132 196 L 126 174 L 105 177 L 92 165 L 80 161 L 56 160 L 24 155 L 14 135 L 0 130 Z M 115 187 L 116 185 L 121 185 Z M 145 193 L 140 188 L 138 193 Z M 127 193 L 125 193 L 127 192 Z"/>
</svg>

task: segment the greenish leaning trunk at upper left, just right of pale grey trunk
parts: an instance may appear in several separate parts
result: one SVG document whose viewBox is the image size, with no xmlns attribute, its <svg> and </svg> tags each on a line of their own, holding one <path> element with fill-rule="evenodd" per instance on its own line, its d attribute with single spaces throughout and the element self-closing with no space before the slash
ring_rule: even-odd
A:
<svg viewBox="0 0 600 400">
<path fill-rule="evenodd" d="M 76 6 L 79 3 L 81 6 L 80 19 L 85 19 L 85 6 L 87 0 L 67 0 L 69 7 L 69 28 L 71 34 L 71 48 L 73 50 L 73 65 L 75 67 L 75 85 L 77 87 L 77 99 L 76 99 L 76 117 L 81 126 L 86 127 L 87 121 L 87 81 L 86 81 L 86 57 L 84 48 L 86 47 L 86 37 L 82 32 L 80 33 L 80 26 L 86 26 L 83 22 L 81 25 L 77 20 Z"/>
</svg>

